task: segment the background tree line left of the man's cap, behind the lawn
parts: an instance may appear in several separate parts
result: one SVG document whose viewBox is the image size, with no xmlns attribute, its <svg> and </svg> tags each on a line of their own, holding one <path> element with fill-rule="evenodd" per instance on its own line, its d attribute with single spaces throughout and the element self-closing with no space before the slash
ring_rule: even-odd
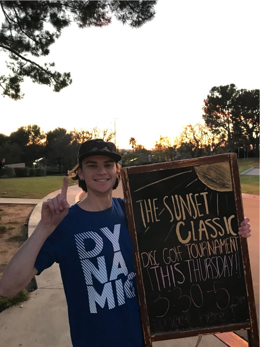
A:
<svg viewBox="0 0 260 347">
<path fill-rule="evenodd" d="M 50 170 L 66 173 L 77 163 L 81 143 L 93 138 L 111 141 L 114 133 L 94 127 L 89 130 L 56 128 L 47 133 L 34 124 L 23 126 L 9 136 L 0 134 L 0 157 L 5 163 L 25 163 L 27 167 L 47 166 Z M 37 161 L 41 159 L 40 161 Z"/>
</svg>

